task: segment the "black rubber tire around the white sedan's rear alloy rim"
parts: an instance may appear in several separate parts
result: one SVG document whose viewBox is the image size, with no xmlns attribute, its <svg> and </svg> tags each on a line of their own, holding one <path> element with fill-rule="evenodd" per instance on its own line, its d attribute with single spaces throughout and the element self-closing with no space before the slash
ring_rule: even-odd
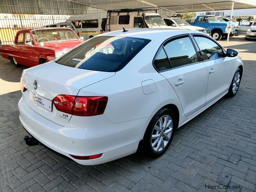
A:
<svg viewBox="0 0 256 192">
<path fill-rule="evenodd" d="M 168 136 L 168 137 L 169 137 L 170 139 L 169 139 L 168 143 L 166 142 L 165 147 L 162 148 L 162 149 L 161 149 L 161 147 L 160 147 L 160 151 L 157 152 L 157 151 L 155 151 L 155 150 L 156 150 L 156 148 L 157 148 L 157 146 L 158 146 L 158 144 L 159 144 L 159 140 L 161 140 L 161 137 L 162 137 L 163 140 L 167 141 L 167 140 L 166 140 L 166 137 L 163 135 L 163 132 L 162 132 L 162 133 L 159 132 L 159 133 L 158 133 L 158 134 L 160 135 L 160 136 L 159 136 L 159 139 L 156 138 L 156 139 L 153 141 L 153 143 L 155 143 L 155 142 L 157 143 L 155 149 L 153 149 L 151 136 L 152 136 L 153 133 L 154 133 L 154 135 L 157 134 L 156 129 L 155 129 L 154 127 L 155 127 L 155 125 L 158 124 L 158 120 L 160 120 L 160 118 L 162 118 L 163 116 L 169 116 L 169 117 L 171 117 L 171 120 L 172 120 L 172 132 L 170 131 L 171 133 L 169 133 L 169 134 L 170 134 L 170 135 L 169 135 L 170 137 L 169 137 L 169 136 Z M 169 121 L 167 121 L 167 122 L 169 122 Z M 164 121 L 163 121 L 163 125 L 164 125 Z M 170 125 L 171 125 L 171 123 L 170 123 Z M 159 124 L 158 124 L 157 126 L 159 126 Z M 161 126 L 159 126 L 159 127 L 161 127 Z M 170 127 L 171 127 L 171 126 L 170 126 Z M 170 129 L 170 127 L 167 127 L 167 128 L 165 129 L 165 131 L 167 130 L 167 132 L 168 132 L 168 130 Z M 163 126 L 162 126 L 162 128 L 163 128 Z M 150 157 L 153 157 L 153 158 L 156 158 L 156 157 L 159 157 L 159 156 L 163 155 L 164 152 L 168 149 L 169 145 L 170 145 L 171 142 L 172 142 L 175 129 L 176 129 L 176 119 L 175 119 L 175 115 L 174 115 L 174 113 L 172 112 L 172 110 L 169 109 L 169 108 L 160 109 L 160 110 L 156 113 L 156 115 L 154 115 L 153 118 L 151 119 L 150 123 L 148 124 L 148 127 L 147 127 L 147 130 L 146 130 L 146 132 L 145 132 L 145 135 L 144 135 L 144 149 L 145 149 L 146 155 L 147 155 L 147 156 L 150 156 Z M 160 144 L 159 144 L 159 145 L 160 145 Z"/>
</svg>

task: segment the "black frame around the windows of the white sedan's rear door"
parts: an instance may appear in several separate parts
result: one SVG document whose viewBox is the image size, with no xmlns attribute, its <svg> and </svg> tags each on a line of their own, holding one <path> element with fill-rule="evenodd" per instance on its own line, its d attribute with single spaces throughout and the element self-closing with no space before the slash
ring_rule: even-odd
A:
<svg viewBox="0 0 256 192">
<path fill-rule="evenodd" d="M 173 41 L 173 40 L 175 40 L 175 39 L 180 39 L 180 38 L 185 37 L 185 36 L 188 36 L 188 37 L 190 38 L 191 43 L 193 44 L 193 46 L 194 46 L 194 48 L 195 48 L 196 55 L 197 55 L 197 58 L 198 58 L 199 61 L 198 61 L 198 62 L 195 62 L 195 63 L 189 63 L 189 64 L 187 64 L 187 65 L 182 65 L 182 66 L 179 66 L 179 67 L 173 67 L 173 68 L 172 68 L 171 61 L 170 61 L 170 58 L 168 57 L 168 55 L 167 55 L 167 53 L 166 53 L 166 50 L 165 50 L 165 48 L 164 48 L 164 44 L 167 44 L 167 43 L 169 43 L 169 42 L 171 42 L 171 41 Z M 154 61 L 155 61 L 155 59 L 156 59 L 156 57 L 157 57 L 157 55 L 158 55 L 158 52 L 161 51 L 161 48 L 162 48 L 162 47 L 163 47 L 163 50 L 164 50 L 165 54 L 167 55 L 167 58 L 168 58 L 168 61 L 169 61 L 169 64 L 170 64 L 171 68 L 159 72 L 159 71 L 156 69 L 155 65 L 154 65 Z M 153 64 L 153 67 L 156 69 L 156 71 L 157 71 L 158 73 L 162 73 L 162 72 L 164 72 L 164 71 L 169 71 L 169 70 L 172 70 L 172 69 L 177 69 L 177 68 L 181 68 L 181 67 L 186 67 L 186 66 L 194 65 L 194 64 L 197 64 L 197 63 L 201 63 L 201 62 L 203 62 L 203 61 L 200 61 L 199 55 L 198 55 L 198 52 L 197 52 L 197 49 L 196 49 L 196 46 L 195 46 L 193 40 L 191 39 L 191 37 L 190 37 L 190 35 L 189 35 L 189 33 L 188 33 L 188 34 L 182 34 L 182 35 L 173 36 L 173 37 L 171 37 L 171 38 L 166 39 L 166 40 L 159 46 L 159 48 L 158 48 L 158 50 L 157 50 L 157 52 L 156 52 L 156 54 L 155 54 L 155 56 L 154 56 L 154 58 L 153 58 L 152 64 Z"/>
</svg>

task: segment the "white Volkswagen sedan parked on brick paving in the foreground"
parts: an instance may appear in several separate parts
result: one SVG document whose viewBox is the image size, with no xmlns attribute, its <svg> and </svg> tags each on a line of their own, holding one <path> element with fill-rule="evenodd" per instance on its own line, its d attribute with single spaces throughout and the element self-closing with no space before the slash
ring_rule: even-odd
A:
<svg viewBox="0 0 256 192">
<path fill-rule="evenodd" d="M 101 34 L 23 71 L 20 121 L 33 138 L 79 164 L 130 155 L 139 143 L 157 157 L 177 128 L 236 95 L 244 68 L 237 54 L 197 31 Z"/>
</svg>

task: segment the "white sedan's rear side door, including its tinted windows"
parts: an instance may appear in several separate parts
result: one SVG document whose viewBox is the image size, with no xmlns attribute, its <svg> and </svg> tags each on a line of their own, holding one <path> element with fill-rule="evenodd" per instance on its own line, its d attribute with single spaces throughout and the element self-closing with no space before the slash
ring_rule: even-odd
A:
<svg viewBox="0 0 256 192">
<path fill-rule="evenodd" d="M 198 60 L 189 35 L 165 42 L 154 65 L 177 93 L 186 117 L 205 106 L 208 73 L 204 63 Z"/>
</svg>

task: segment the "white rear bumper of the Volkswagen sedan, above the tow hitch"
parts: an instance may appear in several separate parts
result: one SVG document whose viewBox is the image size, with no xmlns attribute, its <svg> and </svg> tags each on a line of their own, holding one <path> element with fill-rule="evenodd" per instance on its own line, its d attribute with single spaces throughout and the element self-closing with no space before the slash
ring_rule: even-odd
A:
<svg viewBox="0 0 256 192">
<path fill-rule="evenodd" d="M 26 131 L 43 145 L 83 165 L 106 163 L 136 152 L 150 118 L 112 123 L 104 115 L 72 116 L 61 126 L 39 115 L 19 101 L 20 122 Z M 100 158 L 77 160 L 70 155 Z"/>
</svg>

